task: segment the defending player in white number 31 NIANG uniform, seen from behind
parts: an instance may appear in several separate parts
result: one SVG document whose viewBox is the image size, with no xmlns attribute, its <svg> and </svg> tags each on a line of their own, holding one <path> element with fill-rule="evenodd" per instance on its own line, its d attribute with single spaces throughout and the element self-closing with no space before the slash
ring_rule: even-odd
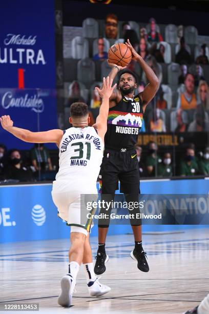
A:
<svg viewBox="0 0 209 314">
<path fill-rule="evenodd" d="M 103 155 L 104 137 L 107 131 L 109 97 L 116 84 L 109 77 L 103 79 L 99 115 L 94 127 L 89 127 L 88 106 L 74 103 L 70 108 L 70 123 L 73 127 L 46 132 L 31 132 L 13 126 L 9 115 L 0 117 L 2 127 L 18 139 L 29 143 L 56 143 L 59 147 L 59 171 L 53 182 L 52 198 L 58 208 L 58 217 L 71 226 L 71 248 L 69 250 L 69 273 L 61 279 L 58 304 L 70 306 L 76 276 L 83 263 L 90 296 L 102 296 L 111 290 L 99 283 L 94 274 L 92 251 L 89 242 L 91 221 L 80 222 L 80 194 L 97 194 L 96 181 Z"/>
</svg>

